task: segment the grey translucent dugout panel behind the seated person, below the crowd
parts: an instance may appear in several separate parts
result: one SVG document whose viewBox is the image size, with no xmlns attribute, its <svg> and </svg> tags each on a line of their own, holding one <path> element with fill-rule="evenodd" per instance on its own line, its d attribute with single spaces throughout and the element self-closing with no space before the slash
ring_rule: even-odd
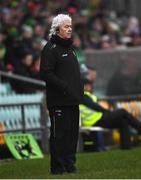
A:
<svg viewBox="0 0 141 180">
<path fill-rule="evenodd" d="M 141 94 L 141 48 L 88 52 L 87 65 L 97 70 L 94 91 L 100 98 Z"/>
</svg>

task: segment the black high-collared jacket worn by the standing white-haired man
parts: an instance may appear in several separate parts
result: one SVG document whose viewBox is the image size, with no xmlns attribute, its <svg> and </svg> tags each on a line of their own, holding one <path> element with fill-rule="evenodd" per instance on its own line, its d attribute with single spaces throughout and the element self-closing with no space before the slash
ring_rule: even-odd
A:
<svg viewBox="0 0 141 180">
<path fill-rule="evenodd" d="M 41 79 L 46 82 L 47 106 L 78 105 L 83 84 L 72 41 L 54 35 L 42 50 Z"/>
</svg>

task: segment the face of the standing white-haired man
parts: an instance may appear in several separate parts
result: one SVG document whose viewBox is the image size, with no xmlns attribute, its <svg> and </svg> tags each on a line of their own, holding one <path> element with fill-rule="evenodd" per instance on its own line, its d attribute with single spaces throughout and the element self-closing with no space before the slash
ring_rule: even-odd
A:
<svg viewBox="0 0 141 180">
<path fill-rule="evenodd" d="M 63 24 L 59 27 L 57 35 L 63 39 L 69 39 L 72 35 L 72 23 L 70 20 L 65 20 Z"/>
</svg>

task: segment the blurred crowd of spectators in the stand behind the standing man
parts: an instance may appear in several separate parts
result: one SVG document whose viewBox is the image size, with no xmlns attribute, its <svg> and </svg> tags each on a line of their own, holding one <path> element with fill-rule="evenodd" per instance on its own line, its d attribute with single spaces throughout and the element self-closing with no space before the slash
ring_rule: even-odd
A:
<svg viewBox="0 0 141 180">
<path fill-rule="evenodd" d="M 73 18 L 81 65 L 88 51 L 141 46 L 139 19 L 106 10 L 104 0 L 1 0 L 0 70 L 39 79 L 40 52 L 58 13 Z"/>
</svg>

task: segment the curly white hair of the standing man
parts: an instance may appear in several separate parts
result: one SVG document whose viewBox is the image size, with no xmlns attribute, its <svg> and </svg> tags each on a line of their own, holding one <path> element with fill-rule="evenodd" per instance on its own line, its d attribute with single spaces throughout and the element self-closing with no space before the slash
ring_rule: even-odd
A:
<svg viewBox="0 0 141 180">
<path fill-rule="evenodd" d="M 60 27 L 65 20 L 72 21 L 72 18 L 67 14 L 58 14 L 53 18 L 49 33 L 49 39 L 52 37 L 52 35 L 56 34 L 57 28 Z"/>
</svg>

